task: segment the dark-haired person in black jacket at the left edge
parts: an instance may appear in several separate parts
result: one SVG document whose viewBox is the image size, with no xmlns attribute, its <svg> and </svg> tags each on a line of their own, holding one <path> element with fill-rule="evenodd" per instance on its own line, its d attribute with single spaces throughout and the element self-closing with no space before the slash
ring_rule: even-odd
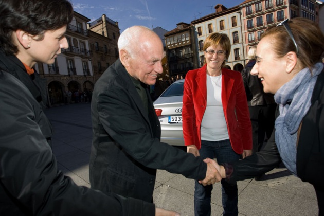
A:
<svg viewBox="0 0 324 216">
<path fill-rule="evenodd" d="M 58 170 L 46 80 L 34 65 L 68 48 L 73 13 L 66 0 L 0 0 L 0 215 L 175 215 L 77 186 Z"/>
</svg>

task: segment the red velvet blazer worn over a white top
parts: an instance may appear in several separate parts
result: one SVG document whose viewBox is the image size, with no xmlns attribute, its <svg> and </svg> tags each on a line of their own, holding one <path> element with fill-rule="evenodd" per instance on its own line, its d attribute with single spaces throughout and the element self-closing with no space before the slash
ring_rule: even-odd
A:
<svg viewBox="0 0 324 216">
<path fill-rule="evenodd" d="M 206 64 L 186 74 L 183 96 L 185 146 L 201 148 L 201 122 L 206 110 Z M 252 127 L 241 73 L 222 68 L 222 103 L 232 149 L 242 154 L 252 149 Z"/>
</svg>

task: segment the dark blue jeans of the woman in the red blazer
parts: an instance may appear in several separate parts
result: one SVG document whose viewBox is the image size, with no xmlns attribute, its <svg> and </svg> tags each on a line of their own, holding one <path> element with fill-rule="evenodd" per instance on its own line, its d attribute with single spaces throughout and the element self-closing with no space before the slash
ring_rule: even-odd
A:
<svg viewBox="0 0 324 216">
<path fill-rule="evenodd" d="M 202 140 L 202 146 L 199 150 L 202 158 L 217 158 L 217 162 L 230 163 L 237 161 L 241 155 L 235 153 L 230 145 L 229 139 L 221 141 L 205 141 Z M 238 215 L 238 186 L 237 184 L 229 184 L 224 179 L 222 184 L 222 203 L 223 215 Z M 210 197 L 212 185 L 203 186 L 195 181 L 194 185 L 194 215 L 208 216 L 211 213 Z"/>
</svg>

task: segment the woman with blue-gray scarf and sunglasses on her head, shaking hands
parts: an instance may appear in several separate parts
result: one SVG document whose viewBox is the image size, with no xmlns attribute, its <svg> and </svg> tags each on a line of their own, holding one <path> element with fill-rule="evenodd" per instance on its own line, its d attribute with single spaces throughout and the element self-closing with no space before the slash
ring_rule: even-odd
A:
<svg viewBox="0 0 324 216">
<path fill-rule="evenodd" d="M 324 35 L 303 18 L 285 20 L 262 35 L 257 63 L 264 92 L 278 104 L 275 130 L 265 148 L 218 168 L 222 178 L 238 181 L 268 172 L 280 161 L 315 188 L 319 215 L 324 215 Z"/>
</svg>

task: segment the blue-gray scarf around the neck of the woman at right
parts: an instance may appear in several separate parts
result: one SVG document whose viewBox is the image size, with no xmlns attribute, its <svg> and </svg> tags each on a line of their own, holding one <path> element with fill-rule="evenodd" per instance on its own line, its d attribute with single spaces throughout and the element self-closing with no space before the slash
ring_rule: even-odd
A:
<svg viewBox="0 0 324 216">
<path fill-rule="evenodd" d="M 317 76 L 323 67 L 322 63 L 316 63 L 312 68 L 313 75 L 309 68 L 300 70 L 275 94 L 275 101 L 279 104 L 280 112 L 275 122 L 276 143 L 284 165 L 295 176 L 297 176 L 297 131 L 302 118 L 310 109 Z"/>
</svg>

